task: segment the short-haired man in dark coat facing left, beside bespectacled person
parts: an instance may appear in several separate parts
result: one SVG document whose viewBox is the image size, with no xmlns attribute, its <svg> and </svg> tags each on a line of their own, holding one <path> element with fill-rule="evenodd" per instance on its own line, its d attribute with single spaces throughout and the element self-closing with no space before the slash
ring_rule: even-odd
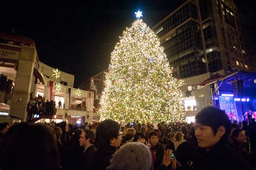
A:
<svg viewBox="0 0 256 170">
<path fill-rule="evenodd" d="M 84 147 L 84 151 L 81 157 L 82 168 L 86 169 L 88 162 L 90 161 L 93 152 L 96 151 L 96 147 L 93 145 L 95 142 L 95 133 L 91 130 L 83 130 L 80 135 L 79 143 L 80 146 Z"/>
</svg>

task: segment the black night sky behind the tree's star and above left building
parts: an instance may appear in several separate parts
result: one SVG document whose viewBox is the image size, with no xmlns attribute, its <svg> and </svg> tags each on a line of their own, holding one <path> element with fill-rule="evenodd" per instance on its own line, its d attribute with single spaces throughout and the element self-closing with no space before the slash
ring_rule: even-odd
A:
<svg viewBox="0 0 256 170">
<path fill-rule="evenodd" d="M 184 1 L 42 2 L 1 4 L 0 31 L 15 28 L 33 39 L 39 60 L 74 74 L 78 87 L 108 67 L 119 36 L 136 19 L 134 12 L 142 10 L 143 21 L 152 28 Z"/>
</svg>

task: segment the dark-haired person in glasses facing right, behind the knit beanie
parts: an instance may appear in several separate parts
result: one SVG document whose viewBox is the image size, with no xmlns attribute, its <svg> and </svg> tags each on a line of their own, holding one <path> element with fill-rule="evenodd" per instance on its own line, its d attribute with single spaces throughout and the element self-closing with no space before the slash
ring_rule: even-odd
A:
<svg viewBox="0 0 256 170">
<path fill-rule="evenodd" d="M 96 130 L 97 150 L 92 154 L 88 169 L 105 169 L 121 144 L 120 125 L 113 120 L 102 121 Z"/>
</svg>

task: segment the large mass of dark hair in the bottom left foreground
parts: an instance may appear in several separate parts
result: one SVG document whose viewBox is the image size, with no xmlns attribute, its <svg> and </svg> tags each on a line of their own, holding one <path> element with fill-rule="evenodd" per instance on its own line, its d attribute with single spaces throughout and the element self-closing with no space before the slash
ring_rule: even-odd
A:
<svg viewBox="0 0 256 170">
<path fill-rule="evenodd" d="M 3 148 L 7 169 L 58 169 L 55 137 L 41 124 L 20 123 L 10 127 Z"/>
</svg>

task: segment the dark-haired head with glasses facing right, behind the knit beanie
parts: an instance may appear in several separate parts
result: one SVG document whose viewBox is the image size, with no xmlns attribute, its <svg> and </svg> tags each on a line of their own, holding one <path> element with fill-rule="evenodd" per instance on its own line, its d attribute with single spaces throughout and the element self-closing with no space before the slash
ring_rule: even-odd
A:
<svg viewBox="0 0 256 170">
<path fill-rule="evenodd" d="M 102 121 L 96 130 L 96 146 L 104 148 L 108 145 L 119 147 L 122 141 L 120 125 L 113 120 Z"/>
</svg>

